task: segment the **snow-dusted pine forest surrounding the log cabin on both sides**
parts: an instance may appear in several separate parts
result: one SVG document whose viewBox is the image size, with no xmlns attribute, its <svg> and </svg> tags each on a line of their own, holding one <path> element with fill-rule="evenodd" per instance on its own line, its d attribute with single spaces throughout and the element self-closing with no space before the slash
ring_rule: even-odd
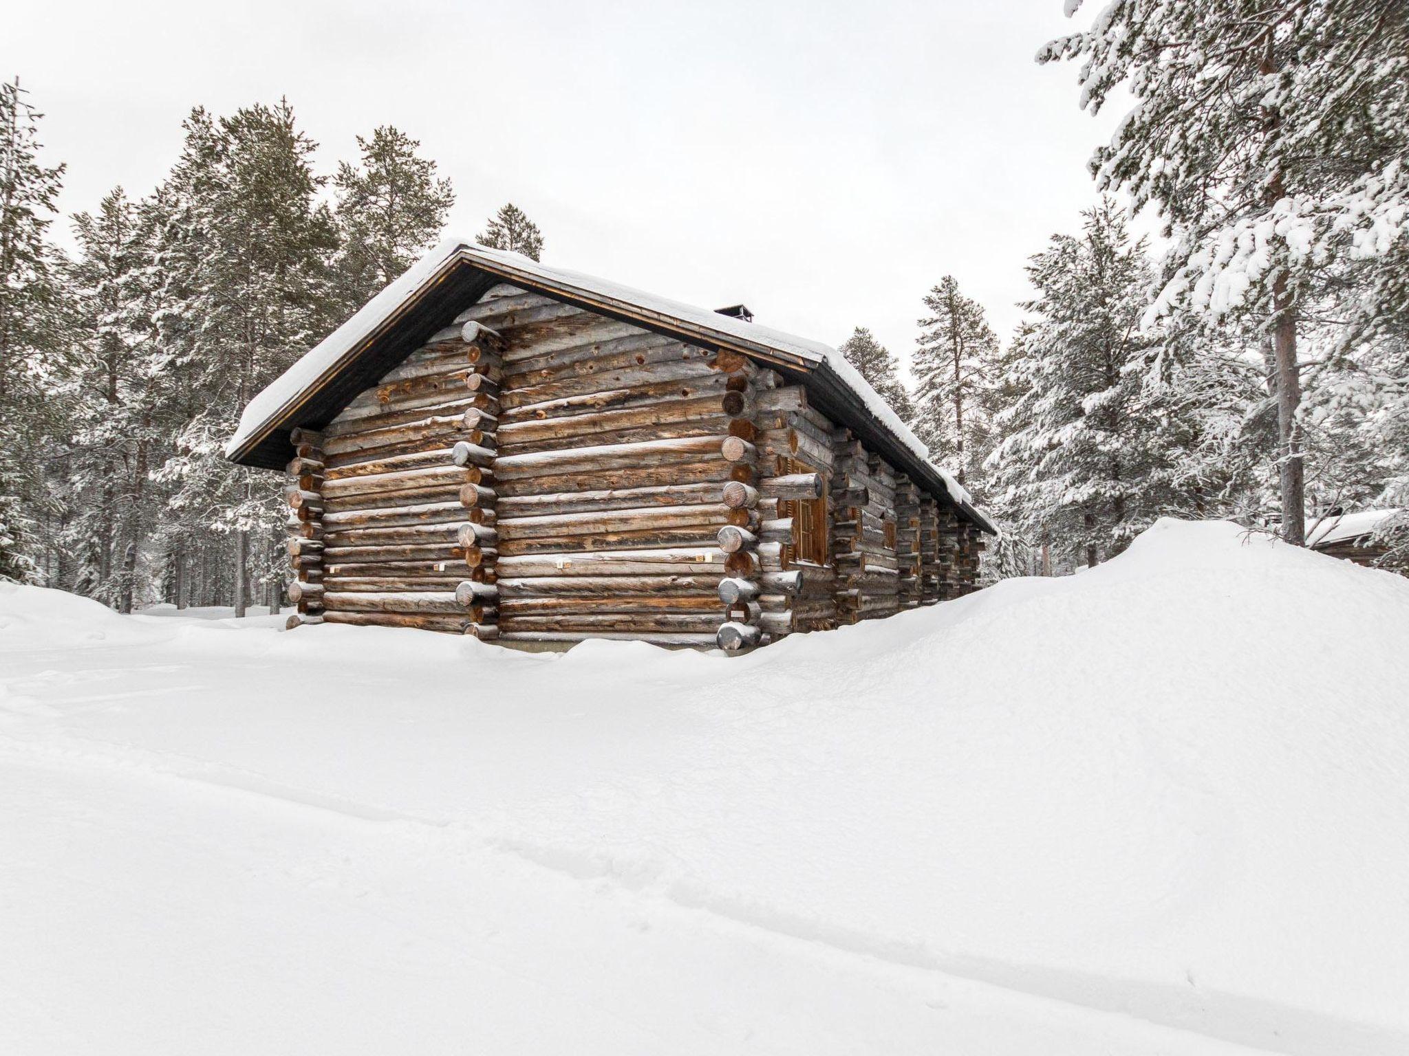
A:
<svg viewBox="0 0 1409 1056">
<path fill-rule="evenodd" d="M 1098 565 L 1165 515 L 1302 543 L 1409 507 L 1403 7 L 1116 0 L 1037 58 L 1079 65 L 1074 103 L 1136 108 L 1079 228 L 1033 248 L 1023 322 L 916 276 L 913 348 L 841 344 L 1003 525 L 985 580 Z M 318 172 L 280 100 L 196 107 L 159 186 L 65 218 L 41 110 L 0 87 L 0 579 L 278 611 L 282 480 L 221 448 L 437 241 L 454 189 L 393 125 Z M 544 252 L 513 204 L 480 242 Z M 1409 514 L 1378 531 L 1402 562 Z"/>
</svg>

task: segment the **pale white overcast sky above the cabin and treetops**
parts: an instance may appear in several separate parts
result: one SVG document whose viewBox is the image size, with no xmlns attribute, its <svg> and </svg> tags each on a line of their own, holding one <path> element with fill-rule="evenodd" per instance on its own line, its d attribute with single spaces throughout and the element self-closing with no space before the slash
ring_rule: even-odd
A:
<svg viewBox="0 0 1409 1056">
<path fill-rule="evenodd" d="M 1119 114 L 1033 62 L 1061 7 L 48 0 L 6 15 L 0 73 L 45 113 L 69 213 L 145 194 L 192 106 L 287 96 L 324 173 L 379 124 L 420 139 L 454 234 L 511 200 L 545 262 L 906 358 L 947 273 L 1006 339 L 1023 262 L 1093 200 Z"/>
</svg>

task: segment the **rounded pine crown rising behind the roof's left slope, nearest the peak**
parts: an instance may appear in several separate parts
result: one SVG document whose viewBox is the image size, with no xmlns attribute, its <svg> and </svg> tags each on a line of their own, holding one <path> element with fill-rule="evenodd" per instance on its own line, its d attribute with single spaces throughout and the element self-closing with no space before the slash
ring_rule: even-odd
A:
<svg viewBox="0 0 1409 1056">
<path fill-rule="evenodd" d="M 356 165 L 338 165 L 337 224 L 342 248 L 338 296 L 355 311 L 428 249 L 455 204 L 435 162 L 416 155 L 420 144 L 392 125 L 356 138 Z"/>
</svg>

